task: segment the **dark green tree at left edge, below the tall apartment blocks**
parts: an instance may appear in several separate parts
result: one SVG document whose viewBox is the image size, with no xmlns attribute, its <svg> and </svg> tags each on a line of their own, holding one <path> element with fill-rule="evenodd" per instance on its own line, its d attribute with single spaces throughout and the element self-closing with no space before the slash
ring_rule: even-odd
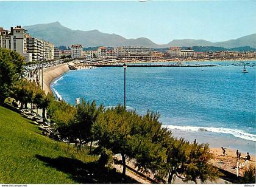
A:
<svg viewBox="0 0 256 187">
<path fill-rule="evenodd" d="M 0 48 L 0 103 L 10 96 L 10 88 L 21 78 L 24 64 L 19 53 Z"/>
</svg>

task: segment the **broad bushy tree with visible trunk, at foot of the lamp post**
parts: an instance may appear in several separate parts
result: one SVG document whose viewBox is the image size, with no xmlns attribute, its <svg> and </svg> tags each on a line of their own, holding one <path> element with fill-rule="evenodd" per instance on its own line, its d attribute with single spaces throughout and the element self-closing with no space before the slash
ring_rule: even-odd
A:
<svg viewBox="0 0 256 187">
<path fill-rule="evenodd" d="M 129 112 L 119 105 L 99 114 L 92 127 L 99 146 L 110 149 L 113 154 L 121 154 L 123 175 L 126 175 L 126 158 L 133 158 L 131 140 L 139 118 L 135 111 Z"/>
</svg>

